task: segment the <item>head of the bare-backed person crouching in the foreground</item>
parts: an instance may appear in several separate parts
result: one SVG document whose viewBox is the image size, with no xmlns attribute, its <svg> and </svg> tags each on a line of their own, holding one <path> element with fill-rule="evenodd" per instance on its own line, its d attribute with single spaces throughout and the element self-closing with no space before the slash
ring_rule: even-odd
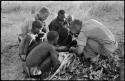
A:
<svg viewBox="0 0 125 81">
<path fill-rule="evenodd" d="M 48 32 L 48 34 L 47 34 L 47 40 L 49 42 L 51 42 L 52 44 L 55 45 L 55 44 L 57 44 L 58 39 L 59 39 L 58 32 L 56 32 L 56 31 L 50 31 L 50 32 Z"/>
</svg>

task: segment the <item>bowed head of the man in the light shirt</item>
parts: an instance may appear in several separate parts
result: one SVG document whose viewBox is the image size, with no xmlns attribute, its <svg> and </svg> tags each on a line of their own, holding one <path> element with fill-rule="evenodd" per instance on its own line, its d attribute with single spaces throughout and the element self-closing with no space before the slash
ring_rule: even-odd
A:
<svg viewBox="0 0 125 81">
<path fill-rule="evenodd" d="M 69 28 L 73 34 L 79 33 L 82 28 L 82 21 L 76 19 L 73 20 Z"/>
</svg>

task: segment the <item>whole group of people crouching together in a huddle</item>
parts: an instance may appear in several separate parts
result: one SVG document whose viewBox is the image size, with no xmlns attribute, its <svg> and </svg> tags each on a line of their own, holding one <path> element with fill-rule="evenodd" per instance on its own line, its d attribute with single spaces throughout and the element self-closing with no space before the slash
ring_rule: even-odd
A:
<svg viewBox="0 0 125 81">
<path fill-rule="evenodd" d="M 41 8 L 34 18 L 23 24 L 18 37 L 19 56 L 32 77 L 51 67 L 53 71 L 58 69 L 59 51 L 72 51 L 94 62 L 99 54 L 111 55 L 117 48 L 111 31 L 94 19 L 82 22 L 71 15 L 66 17 L 65 11 L 59 10 L 58 16 L 46 27 L 49 15 L 48 8 Z"/>
</svg>

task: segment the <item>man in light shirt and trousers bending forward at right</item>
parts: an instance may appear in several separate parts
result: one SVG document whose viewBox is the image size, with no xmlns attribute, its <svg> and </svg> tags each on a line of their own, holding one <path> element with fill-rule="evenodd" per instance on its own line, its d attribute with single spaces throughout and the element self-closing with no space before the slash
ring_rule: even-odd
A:
<svg viewBox="0 0 125 81">
<path fill-rule="evenodd" d="M 110 55 L 118 46 L 112 32 L 97 20 L 90 19 L 84 23 L 74 20 L 69 28 L 72 33 L 79 33 L 76 39 L 78 47 L 73 48 L 74 52 L 91 61 L 96 61 L 99 54 Z"/>
</svg>

